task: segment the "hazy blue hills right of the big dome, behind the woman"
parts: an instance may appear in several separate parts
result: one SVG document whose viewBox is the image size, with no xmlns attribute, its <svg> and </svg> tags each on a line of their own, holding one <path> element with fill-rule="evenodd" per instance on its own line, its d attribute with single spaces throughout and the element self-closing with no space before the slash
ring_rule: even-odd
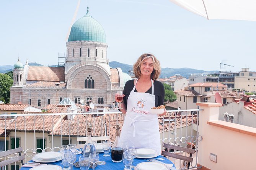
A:
<svg viewBox="0 0 256 170">
<path fill-rule="evenodd" d="M 127 74 L 130 69 L 133 70 L 133 66 L 119 63 L 117 61 L 109 62 L 109 66 L 112 68 L 120 67 L 122 71 Z M 188 78 L 189 75 L 191 74 L 214 73 L 214 72 L 218 72 L 218 71 L 204 71 L 204 70 L 197 70 L 197 69 L 191 69 L 191 68 L 180 68 L 180 69 L 162 68 L 160 77 L 161 78 L 171 77 L 175 74 L 180 74 L 181 76 Z"/>
</svg>

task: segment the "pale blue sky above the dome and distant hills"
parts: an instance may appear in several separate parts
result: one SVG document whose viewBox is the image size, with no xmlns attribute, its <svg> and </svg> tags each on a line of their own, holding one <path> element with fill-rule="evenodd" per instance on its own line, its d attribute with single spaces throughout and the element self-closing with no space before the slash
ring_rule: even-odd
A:
<svg viewBox="0 0 256 170">
<path fill-rule="evenodd" d="M 3 1 L 0 6 L 0 65 L 18 57 L 43 65 L 58 63 L 78 0 Z M 86 14 L 81 0 L 75 21 Z M 207 20 L 168 0 L 91 0 L 89 11 L 103 26 L 109 61 L 134 64 L 151 52 L 161 67 L 205 71 L 256 71 L 256 22 Z"/>
</svg>

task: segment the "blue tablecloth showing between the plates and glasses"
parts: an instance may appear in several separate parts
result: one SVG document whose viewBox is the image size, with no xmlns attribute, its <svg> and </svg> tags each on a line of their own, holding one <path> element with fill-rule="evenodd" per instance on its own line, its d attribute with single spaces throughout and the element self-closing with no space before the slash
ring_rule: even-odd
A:
<svg viewBox="0 0 256 170">
<path fill-rule="evenodd" d="M 99 153 L 99 160 L 104 160 L 106 162 L 105 165 L 98 165 L 95 170 L 123 170 L 124 169 L 124 164 L 123 162 L 119 162 L 119 163 L 114 163 L 112 162 L 111 160 L 111 156 L 108 156 L 108 157 L 104 157 L 103 156 L 104 153 Z M 82 156 L 82 154 L 80 155 L 77 155 L 77 160 L 76 162 L 78 161 L 79 157 Z M 160 158 L 160 157 L 163 157 L 163 156 L 158 156 L 156 158 Z M 133 162 L 133 165 L 137 165 L 139 164 L 140 162 L 145 162 L 147 160 L 145 159 L 140 159 L 140 158 L 135 158 L 134 159 L 134 162 Z M 33 162 L 32 160 L 29 161 L 29 162 Z M 166 159 L 165 160 L 161 160 L 161 162 L 164 162 L 166 164 L 173 164 L 170 160 Z M 61 167 L 63 167 L 63 165 L 61 164 L 61 160 L 60 161 L 57 161 L 57 162 L 51 162 L 51 163 L 47 163 L 47 164 L 52 164 L 52 165 L 59 165 Z M 29 170 L 30 168 L 28 167 L 21 167 L 20 170 Z M 91 168 L 89 168 L 90 170 Z M 77 168 L 75 166 L 73 166 L 73 170 L 80 170 L 80 168 Z M 173 165 L 173 168 L 171 170 L 176 170 L 175 166 Z"/>
</svg>

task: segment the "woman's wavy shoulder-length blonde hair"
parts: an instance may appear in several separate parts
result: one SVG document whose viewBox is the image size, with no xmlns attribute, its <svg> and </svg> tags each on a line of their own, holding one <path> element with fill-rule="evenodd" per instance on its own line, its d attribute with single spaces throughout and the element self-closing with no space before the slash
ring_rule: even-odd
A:
<svg viewBox="0 0 256 170">
<path fill-rule="evenodd" d="M 133 72 L 134 72 L 134 75 L 135 77 L 138 79 L 140 78 L 140 66 L 142 64 L 142 62 L 145 60 L 145 59 L 148 59 L 148 58 L 152 58 L 153 59 L 153 72 L 151 73 L 151 79 L 153 80 L 157 80 L 160 73 L 161 73 L 161 67 L 160 67 L 160 62 L 158 61 L 158 59 L 151 53 L 144 53 L 143 55 L 141 55 L 136 63 L 133 65 Z"/>
</svg>

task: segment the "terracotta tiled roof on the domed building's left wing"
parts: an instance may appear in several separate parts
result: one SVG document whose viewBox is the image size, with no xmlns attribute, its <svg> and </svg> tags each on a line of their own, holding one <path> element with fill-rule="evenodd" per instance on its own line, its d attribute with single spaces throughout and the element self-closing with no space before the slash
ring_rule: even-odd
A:
<svg viewBox="0 0 256 170">
<path fill-rule="evenodd" d="M 29 66 L 27 81 L 65 81 L 65 67 Z"/>
</svg>

